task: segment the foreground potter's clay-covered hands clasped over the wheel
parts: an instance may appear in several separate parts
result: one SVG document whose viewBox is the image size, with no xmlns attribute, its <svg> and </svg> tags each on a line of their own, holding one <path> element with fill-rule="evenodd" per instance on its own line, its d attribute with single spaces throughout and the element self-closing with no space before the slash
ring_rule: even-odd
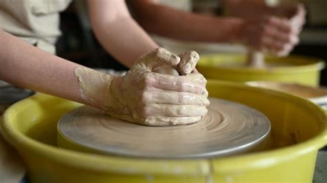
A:
<svg viewBox="0 0 327 183">
<path fill-rule="evenodd" d="M 198 60 L 197 52 L 177 56 L 164 48 L 143 55 L 125 76 L 112 79 L 101 108 L 142 125 L 197 122 L 209 105 L 206 78 L 195 69 Z"/>
</svg>

